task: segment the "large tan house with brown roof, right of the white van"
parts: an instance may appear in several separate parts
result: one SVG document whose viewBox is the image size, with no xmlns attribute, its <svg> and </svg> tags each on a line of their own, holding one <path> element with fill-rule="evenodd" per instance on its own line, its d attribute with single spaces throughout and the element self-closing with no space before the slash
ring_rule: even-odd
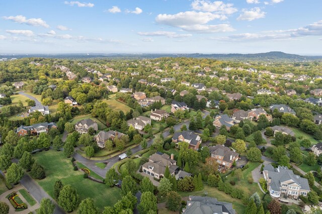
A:
<svg viewBox="0 0 322 214">
<path fill-rule="evenodd" d="M 169 167 L 170 175 L 175 175 L 179 171 L 177 161 L 174 160 L 174 155 L 171 156 L 156 152 L 149 157 L 148 162 L 142 165 L 142 172 L 156 179 L 161 179 L 165 176 L 167 166 Z"/>
</svg>

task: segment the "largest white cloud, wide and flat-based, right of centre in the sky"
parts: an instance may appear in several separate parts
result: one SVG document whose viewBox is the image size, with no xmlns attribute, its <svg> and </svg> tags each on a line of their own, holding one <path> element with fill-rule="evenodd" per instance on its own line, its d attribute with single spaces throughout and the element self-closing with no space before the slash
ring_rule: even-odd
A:
<svg viewBox="0 0 322 214">
<path fill-rule="evenodd" d="M 174 15 L 159 14 L 155 21 L 160 24 L 181 28 L 184 31 L 197 33 L 231 32 L 234 29 L 228 24 L 206 25 L 215 19 L 224 20 L 224 15 L 196 11 L 181 12 Z"/>
</svg>

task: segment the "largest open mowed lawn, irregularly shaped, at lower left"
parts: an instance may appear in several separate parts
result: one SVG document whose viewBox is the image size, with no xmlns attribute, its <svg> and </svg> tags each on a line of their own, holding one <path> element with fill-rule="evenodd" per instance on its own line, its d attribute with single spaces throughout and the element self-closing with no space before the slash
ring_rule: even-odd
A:
<svg viewBox="0 0 322 214">
<path fill-rule="evenodd" d="M 38 152 L 33 157 L 46 171 L 46 178 L 36 181 L 51 197 L 56 180 L 61 180 L 64 185 L 73 186 L 81 200 L 87 197 L 93 198 L 95 206 L 100 211 L 103 211 L 105 206 L 113 206 L 122 197 L 119 188 L 110 188 L 105 184 L 91 181 L 83 178 L 83 172 L 73 171 L 71 158 L 67 159 L 62 152 L 49 150 Z"/>
</svg>

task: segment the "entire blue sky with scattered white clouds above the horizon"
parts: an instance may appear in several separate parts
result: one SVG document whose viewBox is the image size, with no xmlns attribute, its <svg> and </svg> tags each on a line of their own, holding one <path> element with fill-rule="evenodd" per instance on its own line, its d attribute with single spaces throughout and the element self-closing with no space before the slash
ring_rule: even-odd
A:
<svg viewBox="0 0 322 214">
<path fill-rule="evenodd" d="M 322 55 L 320 0 L 2 1 L 0 53 Z"/>
</svg>

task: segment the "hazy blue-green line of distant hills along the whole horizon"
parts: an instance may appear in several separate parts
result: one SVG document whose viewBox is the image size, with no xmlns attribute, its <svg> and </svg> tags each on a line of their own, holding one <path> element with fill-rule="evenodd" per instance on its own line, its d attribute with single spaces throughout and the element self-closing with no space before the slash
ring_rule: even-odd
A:
<svg viewBox="0 0 322 214">
<path fill-rule="evenodd" d="M 213 58 L 213 59 L 236 59 L 236 60 L 320 60 L 322 56 L 301 56 L 296 54 L 287 54 L 280 51 L 256 54 L 162 54 L 162 53 L 111 53 L 111 54 L 28 54 L 28 55 L 0 55 L 1 58 L 25 58 L 25 57 L 44 57 L 44 58 L 61 58 L 61 59 L 90 59 L 90 58 L 160 58 L 160 57 L 191 57 L 191 58 Z"/>
</svg>

